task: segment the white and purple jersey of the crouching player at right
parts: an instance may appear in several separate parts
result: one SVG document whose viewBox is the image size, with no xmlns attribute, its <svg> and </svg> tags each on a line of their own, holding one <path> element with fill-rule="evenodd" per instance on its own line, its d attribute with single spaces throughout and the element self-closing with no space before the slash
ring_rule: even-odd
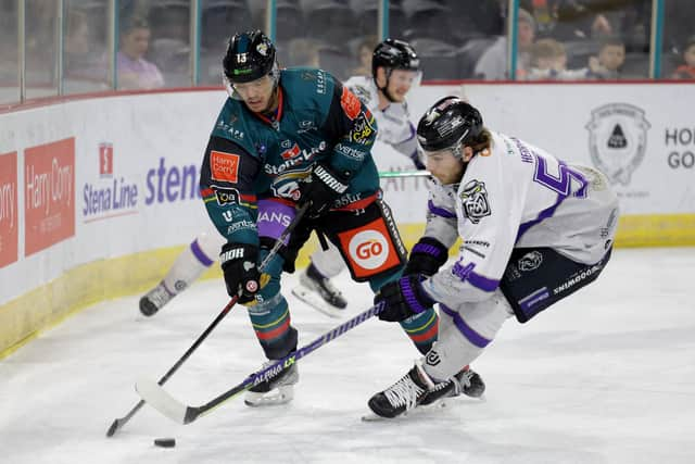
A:
<svg viewBox="0 0 695 464">
<path fill-rule="evenodd" d="M 455 306 L 492 296 L 515 248 L 547 247 L 585 264 L 598 262 L 618 222 L 618 199 L 598 171 L 492 133 L 490 155 L 476 155 L 460 184 L 430 183 L 425 236 L 452 247 L 457 261 L 424 283 Z"/>
</svg>

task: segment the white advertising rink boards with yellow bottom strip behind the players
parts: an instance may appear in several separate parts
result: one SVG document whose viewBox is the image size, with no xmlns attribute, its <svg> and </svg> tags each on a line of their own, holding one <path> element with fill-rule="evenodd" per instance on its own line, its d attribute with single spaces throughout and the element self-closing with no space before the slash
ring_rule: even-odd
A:
<svg viewBox="0 0 695 464">
<path fill-rule="evenodd" d="M 519 87 L 425 86 L 410 110 L 417 121 L 434 99 L 464 96 L 493 129 L 606 171 L 621 199 L 618 247 L 695 244 L 687 86 Z M 146 290 L 210 228 L 198 170 L 225 98 L 154 92 L 0 114 L 0 353 L 85 305 Z M 375 153 L 382 171 L 412 168 L 387 146 Z M 389 179 L 382 188 L 414 243 L 424 180 Z"/>
</svg>

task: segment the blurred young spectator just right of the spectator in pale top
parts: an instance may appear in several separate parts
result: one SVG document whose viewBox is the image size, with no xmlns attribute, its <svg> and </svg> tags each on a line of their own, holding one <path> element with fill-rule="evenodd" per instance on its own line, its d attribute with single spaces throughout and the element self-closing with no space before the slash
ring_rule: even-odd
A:
<svg viewBox="0 0 695 464">
<path fill-rule="evenodd" d="M 589 77 L 587 67 L 567 68 L 565 46 L 555 39 L 541 39 L 531 49 L 531 70 L 529 80 L 577 80 Z"/>
</svg>

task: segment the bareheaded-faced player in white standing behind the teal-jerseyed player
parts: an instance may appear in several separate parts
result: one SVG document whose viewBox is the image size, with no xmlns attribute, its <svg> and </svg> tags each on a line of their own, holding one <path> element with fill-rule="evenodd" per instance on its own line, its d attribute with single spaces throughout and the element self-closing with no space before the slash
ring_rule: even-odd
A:
<svg viewBox="0 0 695 464">
<path fill-rule="evenodd" d="M 413 47 L 403 40 L 386 39 L 377 45 L 371 59 L 371 77 L 354 76 L 345 86 L 362 100 L 377 120 L 377 140 L 392 146 L 409 158 L 415 167 L 424 170 L 417 152 L 415 126 L 406 96 L 421 79 L 420 61 Z M 379 165 L 379 153 L 375 153 Z M 327 249 L 318 249 L 311 256 L 311 264 L 300 274 L 300 285 L 292 293 L 313 308 L 340 316 L 348 302 L 330 279 L 345 264 L 330 242 Z"/>
</svg>

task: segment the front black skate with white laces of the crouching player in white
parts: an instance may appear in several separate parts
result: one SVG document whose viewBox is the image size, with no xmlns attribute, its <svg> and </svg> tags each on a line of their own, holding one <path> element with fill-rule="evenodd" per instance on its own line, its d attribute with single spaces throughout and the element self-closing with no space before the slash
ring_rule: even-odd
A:
<svg viewBox="0 0 695 464">
<path fill-rule="evenodd" d="M 416 362 L 399 381 L 369 399 L 369 409 L 381 417 L 393 418 L 420 404 L 431 404 L 454 388 L 452 380 L 434 383 Z"/>
</svg>

